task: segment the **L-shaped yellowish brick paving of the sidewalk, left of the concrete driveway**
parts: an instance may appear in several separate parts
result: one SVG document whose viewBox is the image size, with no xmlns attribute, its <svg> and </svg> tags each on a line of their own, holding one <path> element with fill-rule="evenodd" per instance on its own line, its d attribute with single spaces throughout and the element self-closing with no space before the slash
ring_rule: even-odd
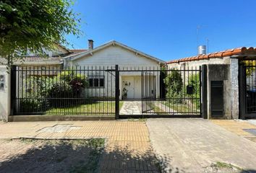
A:
<svg viewBox="0 0 256 173">
<path fill-rule="evenodd" d="M 66 130 L 51 132 L 56 125 Z M 148 128 L 141 121 L 1 123 L 0 138 L 106 138 L 100 172 L 158 172 Z"/>
</svg>

